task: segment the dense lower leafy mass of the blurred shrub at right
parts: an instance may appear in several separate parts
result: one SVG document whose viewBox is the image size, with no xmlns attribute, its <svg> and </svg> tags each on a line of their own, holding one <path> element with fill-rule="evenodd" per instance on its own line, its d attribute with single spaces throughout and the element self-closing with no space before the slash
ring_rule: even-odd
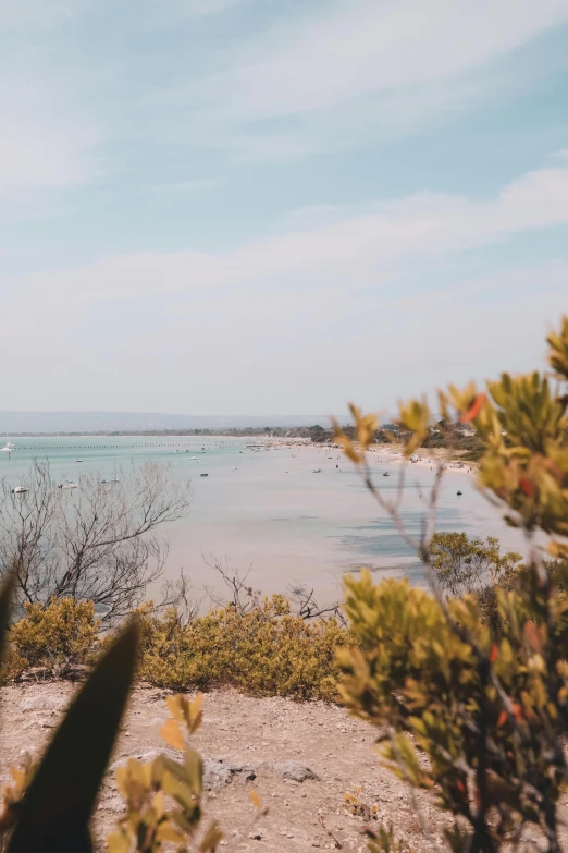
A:
<svg viewBox="0 0 568 853">
<path fill-rule="evenodd" d="M 342 693 L 359 716 L 394 727 L 381 738 L 394 771 L 435 785 L 443 807 L 472 825 L 484 797 L 499 814 L 497 843 L 521 821 L 544 825 L 566 772 L 555 746 L 568 723 L 565 596 L 527 570 L 515 592 L 498 590 L 502 630 L 493 635 L 473 598 L 445 610 L 407 581 L 374 586 L 367 572 L 346 587 L 361 648 L 339 653 Z"/>
</svg>

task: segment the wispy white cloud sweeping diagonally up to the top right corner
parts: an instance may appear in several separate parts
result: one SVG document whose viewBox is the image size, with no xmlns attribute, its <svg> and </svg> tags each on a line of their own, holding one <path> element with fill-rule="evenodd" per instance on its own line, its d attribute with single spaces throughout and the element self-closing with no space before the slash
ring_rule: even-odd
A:
<svg viewBox="0 0 568 853">
<path fill-rule="evenodd" d="M 545 74 L 495 62 L 568 23 L 568 0 L 334 0 L 283 15 L 155 93 L 152 134 L 250 160 L 295 159 L 416 133 Z"/>
</svg>

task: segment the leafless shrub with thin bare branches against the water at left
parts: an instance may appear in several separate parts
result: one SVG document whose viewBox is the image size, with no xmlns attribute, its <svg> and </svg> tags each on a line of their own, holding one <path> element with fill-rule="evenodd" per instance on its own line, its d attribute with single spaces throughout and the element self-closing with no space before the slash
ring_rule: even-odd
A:
<svg viewBox="0 0 568 853">
<path fill-rule="evenodd" d="M 162 576 L 168 541 L 161 525 L 183 517 L 188 488 L 151 462 L 58 488 L 47 462 L 35 461 L 14 495 L 0 484 L 0 569 L 17 576 L 17 602 L 92 599 L 103 622 L 126 616 Z"/>
</svg>

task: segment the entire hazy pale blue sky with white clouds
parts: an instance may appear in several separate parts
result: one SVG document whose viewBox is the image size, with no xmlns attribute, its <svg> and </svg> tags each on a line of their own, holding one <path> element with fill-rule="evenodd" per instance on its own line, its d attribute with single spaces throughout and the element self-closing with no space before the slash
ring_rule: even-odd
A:
<svg viewBox="0 0 568 853">
<path fill-rule="evenodd" d="M 568 310 L 568 0 L 0 0 L 0 410 L 393 407 Z"/>
</svg>

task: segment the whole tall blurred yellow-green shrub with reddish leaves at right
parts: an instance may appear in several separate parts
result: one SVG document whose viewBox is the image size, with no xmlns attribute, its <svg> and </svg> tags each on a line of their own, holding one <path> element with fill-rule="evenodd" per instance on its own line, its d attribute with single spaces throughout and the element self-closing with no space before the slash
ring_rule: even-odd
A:
<svg viewBox="0 0 568 853">
<path fill-rule="evenodd" d="M 557 802 L 568 780 L 568 317 L 548 344 L 554 385 L 536 371 L 503 374 L 485 391 L 470 385 L 439 393 L 443 418 L 472 423 L 483 441 L 481 488 L 527 534 L 527 565 L 511 563 L 507 583 L 495 589 L 498 619 L 485 619 L 474 595 L 441 594 L 436 561 L 440 570 L 446 558 L 431 550 L 432 513 L 415 543 L 431 593 L 407 581 L 375 586 L 368 572 L 346 582 L 359 647 L 338 653 L 344 700 L 380 727 L 394 772 L 432 791 L 453 814 L 447 840 L 455 853 L 515 845 L 528 825 L 542 831 L 539 849 L 560 850 Z M 375 421 L 351 412 L 358 444 L 341 430 L 337 439 L 403 531 L 396 500 L 382 496 L 365 456 Z M 424 399 L 412 400 L 399 421 L 411 432 L 409 456 L 434 416 Z M 432 505 L 435 496 L 434 487 Z"/>
</svg>

